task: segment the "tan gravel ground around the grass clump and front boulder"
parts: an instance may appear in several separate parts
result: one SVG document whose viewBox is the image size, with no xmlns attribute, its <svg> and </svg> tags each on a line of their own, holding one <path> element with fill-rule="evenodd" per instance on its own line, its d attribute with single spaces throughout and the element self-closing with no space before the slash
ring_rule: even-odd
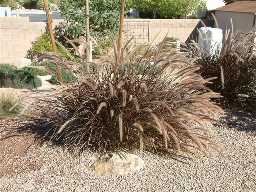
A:
<svg viewBox="0 0 256 192">
<path fill-rule="evenodd" d="M 42 110 L 32 111 L 43 118 Z M 95 173 L 90 166 L 97 153 L 74 157 L 15 129 L 33 124 L 30 117 L 2 121 L 0 191 L 256 191 L 256 115 L 226 111 L 218 120 L 222 125 L 208 128 L 222 139 L 215 141 L 228 160 L 215 152 L 197 161 L 144 152 L 145 167 L 126 176 Z"/>
</svg>

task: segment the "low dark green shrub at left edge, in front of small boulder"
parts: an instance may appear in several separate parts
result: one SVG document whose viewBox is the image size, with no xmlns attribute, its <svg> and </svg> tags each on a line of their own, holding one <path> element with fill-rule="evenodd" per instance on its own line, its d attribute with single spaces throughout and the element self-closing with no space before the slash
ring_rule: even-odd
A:
<svg viewBox="0 0 256 192">
<path fill-rule="evenodd" d="M 7 67 L 7 64 L 0 64 L 0 69 L 0 87 L 11 87 L 21 89 L 42 86 L 42 81 L 38 77 L 29 74 L 29 72 L 27 71 L 13 70 L 12 66 L 11 68 Z"/>
</svg>

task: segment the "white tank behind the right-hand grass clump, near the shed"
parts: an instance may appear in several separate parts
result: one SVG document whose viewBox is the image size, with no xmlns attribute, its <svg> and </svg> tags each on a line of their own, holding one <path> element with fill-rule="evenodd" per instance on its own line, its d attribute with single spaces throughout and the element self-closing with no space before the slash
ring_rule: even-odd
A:
<svg viewBox="0 0 256 192">
<path fill-rule="evenodd" d="M 208 53 L 213 54 L 217 49 L 221 50 L 223 38 L 222 29 L 201 27 L 199 33 L 201 35 L 199 34 L 198 45 L 201 52 L 207 51 Z"/>
</svg>

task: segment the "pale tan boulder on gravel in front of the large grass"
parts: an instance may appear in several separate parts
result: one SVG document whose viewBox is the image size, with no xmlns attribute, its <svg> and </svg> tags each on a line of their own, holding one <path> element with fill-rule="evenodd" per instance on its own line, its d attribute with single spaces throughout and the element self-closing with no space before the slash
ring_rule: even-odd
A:
<svg viewBox="0 0 256 192">
<path fill-rule="evenodd" d="M 96 173 L 122 175 L 138 171 L 145 166 L 142 158 L 129 153 L 109 153 L 99 157 L 91 166 Z"/>
</svg>

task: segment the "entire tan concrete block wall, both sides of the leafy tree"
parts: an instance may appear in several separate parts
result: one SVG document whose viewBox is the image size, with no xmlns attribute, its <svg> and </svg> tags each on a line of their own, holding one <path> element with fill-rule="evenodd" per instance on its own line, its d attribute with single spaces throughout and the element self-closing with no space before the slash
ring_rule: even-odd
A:
<svg viewBox="0 0 256 192">
<path fill-rule="evenodd" d="M 197 28 L 202 27 L 199 19 L 124 19 L 123 43 L 133 35 L 139 40 L 153 41 L 153 45 L 162 41 L 168 33 L 170 37 L 178 37 L 181 41 L 189 38 L 196 40 Z M 60 26 L 64 20 L 52 20 L 53 29 Z M 148 25 L 149 23 L 149 25 Z M 214 20 L 204 20 L 206 26 L 213 27 Z M 0 63 L 12 63 L 26 56 L 31 48 L 31 43 L 36 37 L 45 32 L 46 23 L 29 22 L 29 17 L 0 17 Z M 143 30 L 141 28 L 144 28 Z M 126 33 L 128 31 L 129 33 Z M 146 38 L 145 38 L 146 37 Z"/>
</svg>

